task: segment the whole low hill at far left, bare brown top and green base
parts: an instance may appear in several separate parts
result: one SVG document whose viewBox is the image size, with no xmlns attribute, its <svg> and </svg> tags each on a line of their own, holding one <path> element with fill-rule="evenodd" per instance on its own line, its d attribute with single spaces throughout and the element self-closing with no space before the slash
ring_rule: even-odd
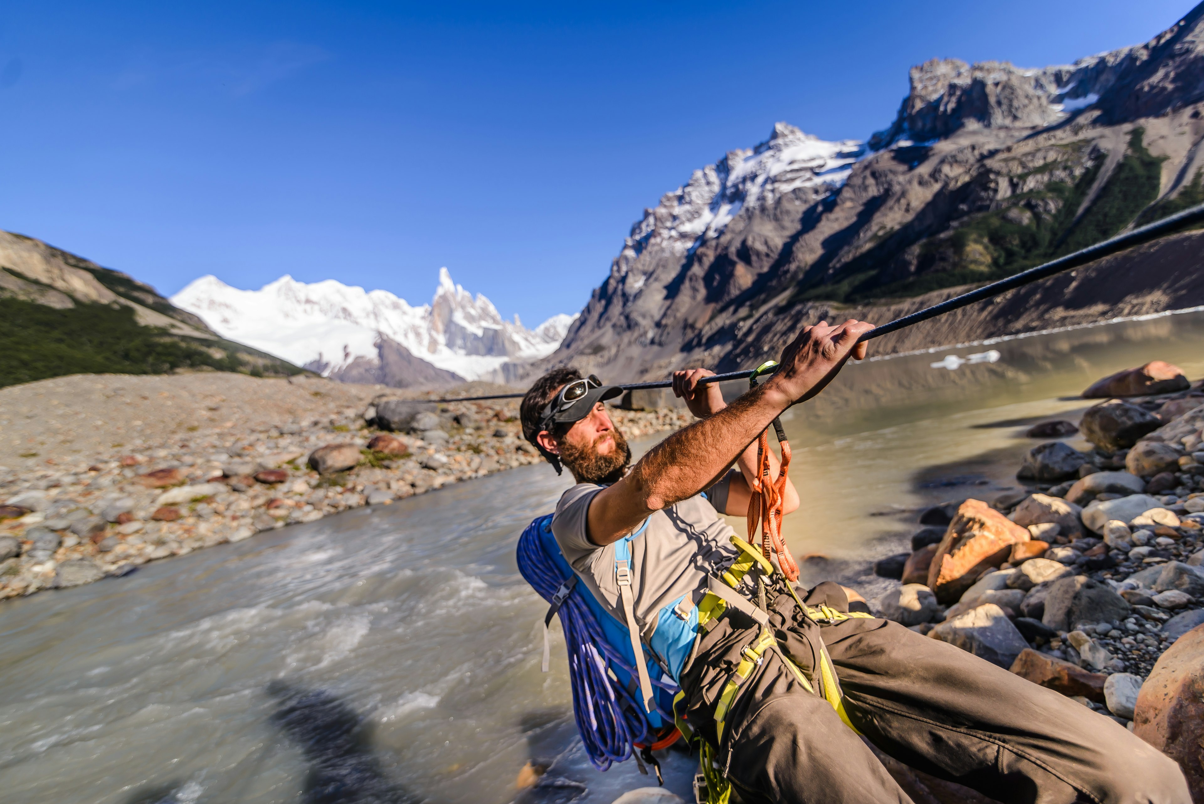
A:
<svg viewBox="0 0 1204 804">
<path fill-rule="evenodd" d="M 0 385 L 179 368 L 258 376 L 301 371 L 222 338 L 129 274 L 0 231 Z"/>
</svg>

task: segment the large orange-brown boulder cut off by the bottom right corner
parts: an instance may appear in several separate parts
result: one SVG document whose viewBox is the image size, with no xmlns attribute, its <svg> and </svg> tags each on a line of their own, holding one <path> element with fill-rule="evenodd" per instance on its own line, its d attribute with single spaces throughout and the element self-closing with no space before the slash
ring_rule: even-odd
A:
<svg viewBox="0 0 1204 804">
<path fill-rule="evenodd" d="M 1204 802 L 1204 626 L 1175 640 L 1141 685 L 1133 733 L 1179 763 Z"/>
</svg>

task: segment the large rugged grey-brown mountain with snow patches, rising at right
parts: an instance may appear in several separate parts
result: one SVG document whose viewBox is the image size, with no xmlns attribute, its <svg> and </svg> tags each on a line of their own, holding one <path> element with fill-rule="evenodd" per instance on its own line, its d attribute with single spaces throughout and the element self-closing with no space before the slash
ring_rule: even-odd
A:
<svg viewBox="0 0 1204 804">
<path fill-rule="evenodd" d="M 866 146 L 779 123 L 647 209 L 560 349 L 532 370 L 733 370 L 775 356 L 801 323 L 850 309 L 885 321 L 1200 203 L 1202 34 L 1204 5 L 1145 45 L 1072 65 L 932 60 L 911 70 L 896 119 Z M 1202 242 L 1176 243 L 1078 272 L 1094 285 L 1080 282 L 1073 300 L 1054 285 L 1017 291 L 875 348 L 1200 298 Z"/>
</svg>

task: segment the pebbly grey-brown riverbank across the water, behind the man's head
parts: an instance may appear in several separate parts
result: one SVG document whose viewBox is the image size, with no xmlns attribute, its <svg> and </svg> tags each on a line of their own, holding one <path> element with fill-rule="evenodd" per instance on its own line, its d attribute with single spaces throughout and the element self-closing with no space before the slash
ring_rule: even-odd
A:
<svg viewBox="0 0 1204 804">
<path fill-rule="evenodd" d="M 0 599 L 541 460 L 517 400 L 430 396 L 216 372 L 0 389 Z M 614 410 L 631 438 L 686 415 Z"/>
</svg>

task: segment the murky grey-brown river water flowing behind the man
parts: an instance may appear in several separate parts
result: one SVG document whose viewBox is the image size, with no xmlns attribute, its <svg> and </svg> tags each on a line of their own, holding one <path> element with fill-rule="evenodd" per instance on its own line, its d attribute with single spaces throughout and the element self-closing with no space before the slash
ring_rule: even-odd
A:
<svg viewBox="0 0 1204 804">
<path fill-rule="evenodd" d="M 1028 424 L 1147 360 L 1199 377 L 1202 347 L 1186 314 L 850 366 L 786 421 L 791 546 L 873 597 L 868 558 L 916 508 L 1014 486 Z M 606 804 L 655 784 L 589 765 L 559 634 L 539 673 L 514 543 L 566 485 L 524 467 L 0 604 L 0 798 Z M 531 759 L 551 770 L 519 791 Z M 692 761 L 666 767 L 689 797 Z"/>
</svg>

